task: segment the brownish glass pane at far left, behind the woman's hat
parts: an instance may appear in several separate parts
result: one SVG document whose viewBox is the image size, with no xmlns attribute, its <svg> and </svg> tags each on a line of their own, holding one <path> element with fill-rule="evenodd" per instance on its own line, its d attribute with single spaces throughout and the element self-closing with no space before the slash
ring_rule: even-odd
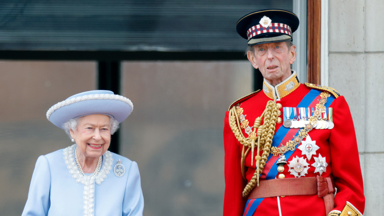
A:
<svg viewBox="0 0 384 216">
<path fill-rule="evenodd" d="M 0 61 L 0 209 L 20 216 L 37 157 L 71 144 L 45 114 L 78 92 L 95 89 L 96 62 Z"/>
</svg>

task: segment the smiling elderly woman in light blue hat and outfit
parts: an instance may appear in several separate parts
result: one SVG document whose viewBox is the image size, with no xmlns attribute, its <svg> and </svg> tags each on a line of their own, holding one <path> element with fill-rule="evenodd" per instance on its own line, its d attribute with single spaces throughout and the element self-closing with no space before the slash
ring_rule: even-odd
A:
<svg viewBox="0 0 384 216">
<path fill-rule="evenodd" d="M 137 164 L 107 150 L 132 109 L 128 98 L 104 90 L 51 107 L 48 120 L 75 144 L 37 159 L 22 216 L 141 216 Z"/>
</svg>

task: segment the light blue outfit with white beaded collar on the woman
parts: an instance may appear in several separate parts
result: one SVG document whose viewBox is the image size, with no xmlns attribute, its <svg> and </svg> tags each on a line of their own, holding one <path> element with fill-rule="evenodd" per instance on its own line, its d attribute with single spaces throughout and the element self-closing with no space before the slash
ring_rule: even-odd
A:
<svg viewBox="0 0 384 216">
<path fill-rule="evenodd" d="M 74 147 L 37 159 L 22 216 L 142 216 L 136 162 L 107 151 L 99 174 L 83 176 L 74 162 Z M 116 166 L 119 159 L 123 166 Z"/>
</svg>

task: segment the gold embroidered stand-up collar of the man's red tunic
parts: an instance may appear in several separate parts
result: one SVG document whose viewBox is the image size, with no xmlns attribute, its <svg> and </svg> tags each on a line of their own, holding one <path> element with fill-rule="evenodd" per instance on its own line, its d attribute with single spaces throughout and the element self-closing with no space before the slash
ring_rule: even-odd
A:
<svg viewBox="0 0 384 216">
<path fill-rule="evenodd" d="M 277 84 L 276 86 L 272 86 L 265 79 L 263 82 L 263 92 L 270 99 L 280 100 L 285 96 L 292 93 L 297 87 L 299 87 L 300 83 L 296 78 L 296 72 L 292 70 L 292 74 L 283 82 Z"/>
</svg>

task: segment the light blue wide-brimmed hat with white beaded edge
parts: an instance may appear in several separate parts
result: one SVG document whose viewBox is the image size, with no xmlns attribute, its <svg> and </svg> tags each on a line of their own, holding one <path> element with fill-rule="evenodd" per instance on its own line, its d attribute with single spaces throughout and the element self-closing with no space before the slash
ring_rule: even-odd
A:
<svg viewBox="0 0 384 216">
<path fill-rule="evenodd" d="M 119 123 L 133 110 L 132 102 L 112 91 L 94 90 L 82 92 L 55 104 L 47 111 L 47 118 L 54 125 L 63 128 L 69 119 L 92 114 L 105 114 Z"/>
</svg>

